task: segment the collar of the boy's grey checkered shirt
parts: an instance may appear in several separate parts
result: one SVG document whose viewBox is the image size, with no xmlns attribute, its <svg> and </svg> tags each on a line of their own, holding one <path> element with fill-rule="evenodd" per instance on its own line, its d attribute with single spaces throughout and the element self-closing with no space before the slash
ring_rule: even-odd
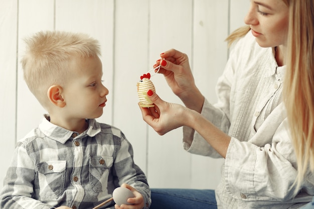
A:
<svg viewBox="0 0 314 209">
<path fill-rule="evenodd" d="M 84 138 L 87 135 L 90 137 L 95 136 L 101 131 L 100 124 L 96 122 L 95 119 L 88 119 L 88 128 L 81 134 L 78 134 L 75 131 L 70 131 L 60 126 L 57 126 L 49 121 L 49 115 L 45 115 L 42 122 L 39 124 L 39 129 L 42 131 L 47 137 L 56 140 L 60 143 L 65 143 L 67 140 L 72 138 L 73 134 L 77 134 L 76 139 Z"/>
</svg>

